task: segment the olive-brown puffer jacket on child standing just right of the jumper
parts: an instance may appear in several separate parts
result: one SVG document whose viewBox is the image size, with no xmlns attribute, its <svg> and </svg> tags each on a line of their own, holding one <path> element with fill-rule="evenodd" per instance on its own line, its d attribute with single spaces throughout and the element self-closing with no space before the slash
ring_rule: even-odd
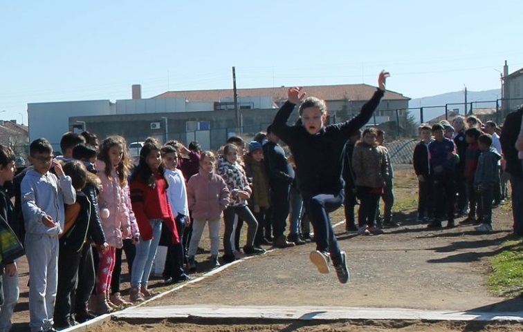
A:
<svg viewBox="0 0 523 332">
<path fill-rule="evenodd" d="M 382 146 L 371 146 L 359 141 L 354 147 L 352 168 L 356 173 L 356 186 L 382 188 L 389 177 L 389 166 Z"/>
</svg>

